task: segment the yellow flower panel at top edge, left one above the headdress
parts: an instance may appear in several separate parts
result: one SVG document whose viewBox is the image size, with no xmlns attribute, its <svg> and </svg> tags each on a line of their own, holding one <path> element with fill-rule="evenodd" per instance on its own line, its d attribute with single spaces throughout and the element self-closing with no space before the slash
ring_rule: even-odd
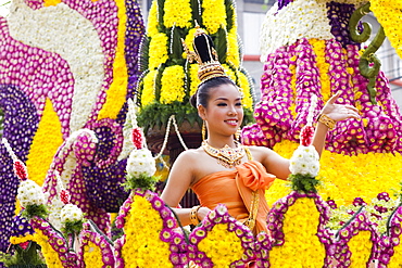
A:
<svg viewBox="0 0 402 268">
<path fill-rule="evenodd" d="M 165 0 L 163 22 L 166 28 L 191 27 L 191 5 L 189 0 Z"/>
</svg>

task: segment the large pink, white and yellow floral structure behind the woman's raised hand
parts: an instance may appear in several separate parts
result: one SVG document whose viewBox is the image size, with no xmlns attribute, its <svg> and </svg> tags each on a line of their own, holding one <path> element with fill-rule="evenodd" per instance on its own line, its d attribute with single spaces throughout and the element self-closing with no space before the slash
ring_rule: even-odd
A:
<svg viewBox="0 0 402 268">
<path fill-rule="evenodd" d="M 311 95 L 318 97 L 316 116 L 340 91 L 337 102 L 357 107 L 361 119 L 338 123 L 326 138 L 318 192 L 338 205 L 355 197 L 369 202 L 379 192 L 393 195 L 393 189 L 400 189 L 401 113 L 373 56 L 384 33 L 400 48 L 400 33 L 387 21 L 366 50 L 359 42 L 369 36 L 369 25 L 360 18 L 372 10 L 380 23 L 385 12 L 399 22 L 395 4 L 401 7 L 400 1 L 278 1 L 262 26 L 262 98 L 254 110 L 256 124 L 243 128 L 243 142 L 273 148 L 289 158 L 305 125 Z M 290 192 L 285 184 L 274 183 L 268 204 Z"/>
</svg>

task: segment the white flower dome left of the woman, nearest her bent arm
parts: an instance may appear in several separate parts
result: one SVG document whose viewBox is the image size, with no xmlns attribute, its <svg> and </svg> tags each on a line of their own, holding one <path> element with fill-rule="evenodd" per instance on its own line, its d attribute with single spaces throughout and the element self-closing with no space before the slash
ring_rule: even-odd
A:
<svg viewBox="0 0 402 268">
<path fill-rule="evenodd" d="M 139 177 L 141 174 L 153 176 L 156 171 L 155 159 L 148 149 L 134 150 L 127 161 L 127 174 Z"/>
</svg>

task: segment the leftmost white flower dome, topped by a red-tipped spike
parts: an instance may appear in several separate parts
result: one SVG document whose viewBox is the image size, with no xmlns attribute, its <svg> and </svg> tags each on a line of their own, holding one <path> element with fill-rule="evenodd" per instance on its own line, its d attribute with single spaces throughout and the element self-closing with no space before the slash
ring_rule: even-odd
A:
<svg viewBox="0 0 402 268">
<path fill-rule="evenodd" d="M 33 180 L 21 181 L 16 197 L 23 207 L 43 205 L 46 203 L 42 189 Z"/>
</svg>

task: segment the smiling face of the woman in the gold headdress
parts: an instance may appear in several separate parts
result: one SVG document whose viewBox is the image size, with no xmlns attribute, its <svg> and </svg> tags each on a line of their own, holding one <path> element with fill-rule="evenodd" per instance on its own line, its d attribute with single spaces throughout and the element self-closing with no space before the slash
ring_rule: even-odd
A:
<svg viewBox="0 0 402 268">
<path fill-rule="evenodd" d="M 206 122 L 210 133 L 234 135 L 243 119 L 241 94 L 230 84 L 211 88 L 208 106 L 199 106 L 199 112 L 202 113 L 200 116 Z"/>
</svg>

